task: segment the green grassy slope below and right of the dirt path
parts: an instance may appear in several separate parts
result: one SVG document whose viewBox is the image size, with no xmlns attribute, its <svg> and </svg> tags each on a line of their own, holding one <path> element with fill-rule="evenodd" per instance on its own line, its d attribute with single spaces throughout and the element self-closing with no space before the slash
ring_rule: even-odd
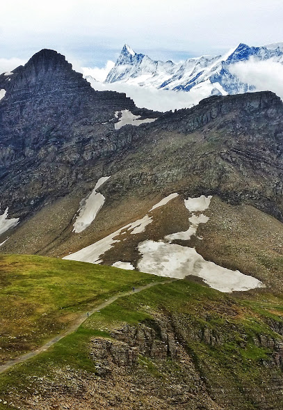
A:
<svg viewBox="0 0 283 410">
<path fill-rule="evenodd" d="M 182 386 L 185 375 L 195 371 L 205 385 L 206 394 L 221 409 L 281 409 L 279 397 L 280 389 L 282 391 L 283 388 L 282 370 L 273 363 L 273 348 L 256 341 L 263 338 L 282 340 L 282 336 L 270 326 L 269 321 L 271 319 L 277 326 L 282 326 L 283 299 L 268 293 L 261 295 L 261 298 L 262 300 L 258 297 L 257 300 L 249 301 L 235 299 L 198 283 L 178 281 L 156 285 L 139 294 L 119 299 L 92 315 L 76 332 L 60 340 L 47 352 L 1 374 L 0 397 L 13 403 L 13 406 L 5 405 L 3 409 L 16 409 L 19 402 L 22 403 L 21 409 L 34 409 L 29 402 L 34 391 L 39 392 L 37 394 L 41 407 L 38 409 L 45 408 L 42 403 L 50 397 L 46 386 L 51 386 L 58 397 L 61 394 L 62 400 L 72 402 L 78 395 L 72 388 L 79 383 L 81 377 L 86 379 L 88 385 L 95 384 L 98 390 L 93 393 L 92 400 L 97 400 L 97 409 L 103 408 L 102 404 L 98 404 L 98 397 L 114 395 L 115 384 L 111 384 L 112 387 L 106 386 L 106 379 L 101 379 L 97 374 L 96 363 L 90 356 L 90 339 L 111 339 L 111 331 L 121 329 L 125 324 L 138 326 L 155 320 L 170 323 L 174 327 L 175 337 L 184 349 L 184 355 L 188 355 L 193 364 L 186 368 L 184 356 L 182 360 L 175 361 L 154 361 L 150 357 L 140 356 L 136 368 L 131 369 L 131 381 L 136 386 L 138 379 L 152 380 L 152 405 L 155 400 L 160 400 L 160 397 L 155 396 L 157 393 L 152 386 L 158 384 L 159 393 L 167 392 L 170 390 L 172 377 Z M 205 334 L 209 338 L 204 338 Z M 211 336 L 216 342 L 211 342 Z M 120 386 L 123 381 L 122 376 L 119 379 Z M 128 379 L 126 381 L 125 385 L 129 383 Z M 194 400 L 199 400 L 204 393 L 197 391 L 193 384 L 191 390 L 191 408 L 195 409 Z M 120 395 L 119 400 L 124 402 L 124 407 L 121 404 L 118 408 L 129 408 L 131 404 L 127 402 L 123 388 L 119 392 L 116 391 L 115 394 Z M 145 392 L 136 392 L 135 395 L 145 406 L 140 408 L 154 408 L 146 404 Z M 87 397 L 79 397 L 82 406 L 91 408 L 88 407 L 90 403 Z M 63 407 L 58 404 L 54 408 Z M 168 407 L 173 408 L 175 407 Z"/>
</svg>

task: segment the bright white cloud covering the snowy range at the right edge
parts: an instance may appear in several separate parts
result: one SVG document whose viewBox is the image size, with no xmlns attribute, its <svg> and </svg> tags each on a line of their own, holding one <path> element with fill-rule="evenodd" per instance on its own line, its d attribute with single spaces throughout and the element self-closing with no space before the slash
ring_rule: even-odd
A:
<svg viewBox="0 0 283 410">
<path fill-rule="evenodd" d="M 275 61 L 257 61 L 250 58 L 229 67 L 229 71 L 257 91 L 273 91 L 283 99 L 283 65 Z"/>
</svg>

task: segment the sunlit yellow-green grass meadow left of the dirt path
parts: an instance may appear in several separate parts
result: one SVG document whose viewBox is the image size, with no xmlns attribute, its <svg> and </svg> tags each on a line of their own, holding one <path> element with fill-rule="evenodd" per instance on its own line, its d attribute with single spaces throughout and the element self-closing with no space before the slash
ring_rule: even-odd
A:
<svg viewBox="0 0 283 410">
<path fill-rule="evenodd" d="M 42 345 L 113 294 L 160 280 L 84 262 L 0 255 L 0 361 Z"/>
</svg>

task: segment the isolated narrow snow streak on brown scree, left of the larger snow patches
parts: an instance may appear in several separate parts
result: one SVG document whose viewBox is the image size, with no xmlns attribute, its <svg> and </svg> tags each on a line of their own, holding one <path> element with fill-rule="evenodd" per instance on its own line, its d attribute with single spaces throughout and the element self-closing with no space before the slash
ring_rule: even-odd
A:
<svg viewBox="0 0 283 410">
<path fill-rule="evenodd" d="M 76 221 L 74 222 L 73 232 L 82 232 L 90 226 L 92 221 L 95 220 L 105 201 L 105 197 L 96 190 L 99 189 L 99 187 L 101 187 L 102 184 L 104 184 L 104 182 L 106 182 L 109 178 L 110 177 L 99 178 L 90 195 L 83 198 L 80 204 L 81 207 L 78 210 L 79 215 L 76 217 Z"/>
</svg>

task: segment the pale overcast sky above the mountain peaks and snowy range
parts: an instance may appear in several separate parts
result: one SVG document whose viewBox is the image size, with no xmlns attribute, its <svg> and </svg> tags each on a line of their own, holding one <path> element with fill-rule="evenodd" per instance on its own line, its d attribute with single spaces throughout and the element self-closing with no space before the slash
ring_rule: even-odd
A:
<svg viewBox="0 0 283 410">
<path fill-rule="evenodd" d="M 222 54 L 239 42 L 282 42 L 282 21 L 282 0 L 1 1 L 0 68 L 42 48 L 65 54 L 74 68 L 102 67 L 125 42 L 173 61 Z"/>
</svg>

